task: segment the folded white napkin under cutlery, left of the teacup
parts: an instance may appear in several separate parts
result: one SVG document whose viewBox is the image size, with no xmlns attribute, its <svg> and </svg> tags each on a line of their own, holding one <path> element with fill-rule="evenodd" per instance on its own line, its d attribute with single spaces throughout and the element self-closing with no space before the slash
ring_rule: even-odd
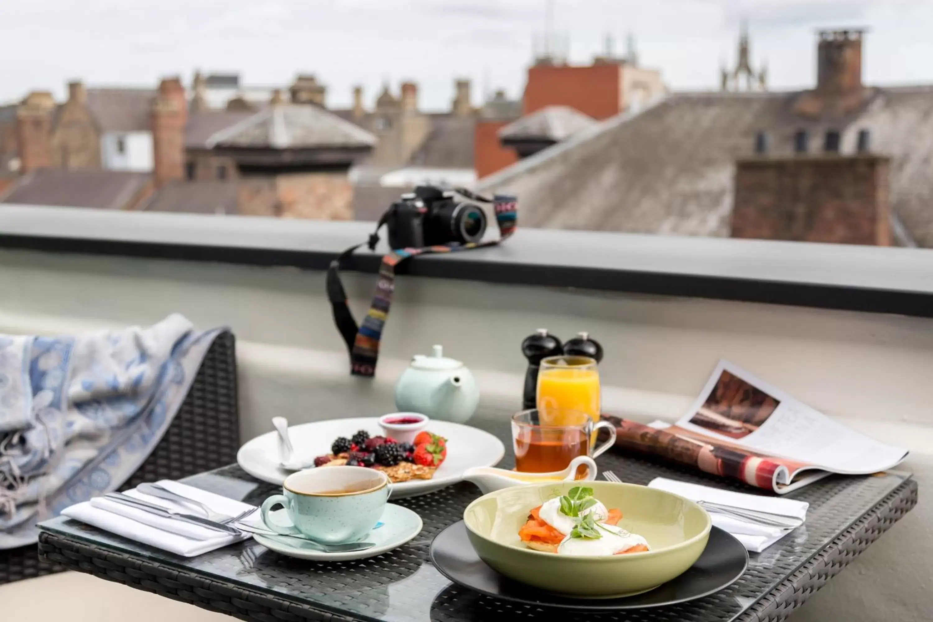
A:
<svg viewBox="0 0 933 622">
<path fill-rule="evenodd" d="M 176 481 L 163 479 L 159 484 L 170 491 L 200 501 L 215 512 L 228 516 L 236 516 L 253 507 L 241 501 L 228 499 L 219 494 L 202 491 Z M 161 505 L 166 509 L 201 516 L 201 513 L 193 507 L 174 504 L 158 497 L 150 497 L 135 489 L 126 491 L 124 494 L 142 499 L 150 504 Z M 62 514 L 68 518 L 86 522 L 106 532 L 116 533 L 124 538 L 155 546 L 187 558 L 252 537 L 248 533 L 241 536 L 230 535 L 229 533 L 216 532 L 208 527 L 194 525 L 184 520 L 159 517 L 127 505 L 107 501 L 101 497 L 67 507 Z"/>
</svg>

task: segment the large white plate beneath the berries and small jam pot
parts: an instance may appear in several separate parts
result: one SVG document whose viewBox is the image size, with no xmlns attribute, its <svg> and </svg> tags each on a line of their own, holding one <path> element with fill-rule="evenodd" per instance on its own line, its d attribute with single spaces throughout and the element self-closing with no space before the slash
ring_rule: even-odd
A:
<svg viewBox="0 0 933 622">
<path fill-rule="evenodd" d="M 447 439 L 447 459 L 431 479 L 412 479 L 392 485 L 392 498 L 404 499 L 419 494 L 439 491 L 463 479 L 464 471 L 474 466 L 493 466 L 506 455 L 502 441 L 488 432 L 460 423 L 435 422 L 427 431 Z M 331 419 L 326 422 L 301 423 L 288 428 L 295 454 L 309 462 L 314 456 L 330 453 L 330 446 L 338 436 L 350 437 L 357 430 L 369 435 L 381 435 L 379 420 L 375 417 Z M 279 465 L 277 435 L 274 432 L 257 436 L 236 454 L 236 461 L 249 475 L 279 484 L 291 474 Z"/>
</svg>

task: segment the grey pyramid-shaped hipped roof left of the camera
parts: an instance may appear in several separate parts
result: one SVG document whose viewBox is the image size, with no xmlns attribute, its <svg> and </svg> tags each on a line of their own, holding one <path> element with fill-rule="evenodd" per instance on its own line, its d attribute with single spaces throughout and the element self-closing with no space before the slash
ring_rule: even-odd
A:
<svg viewBox="0 0 933 622">
<path fill-rule="evenodd" d="M 225 130 L 217 131 L 206 145 L 313 149 L 367 147 L 376 136 L 315 105 L 280 104 L 260 110 Z"/>
</svg>

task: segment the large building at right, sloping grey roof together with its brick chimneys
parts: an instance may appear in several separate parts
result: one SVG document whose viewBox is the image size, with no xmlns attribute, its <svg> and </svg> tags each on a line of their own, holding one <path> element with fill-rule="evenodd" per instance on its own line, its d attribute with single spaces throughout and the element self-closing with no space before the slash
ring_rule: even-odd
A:
<svg viewBox="0 0 933 622">
<path fill-rule="evenodd" d="M 933 86 L 862 83 L 818 36 L 815 87 L 675 93 L 484 179 L 522 225 L 933 247 Z"/>
</svg>

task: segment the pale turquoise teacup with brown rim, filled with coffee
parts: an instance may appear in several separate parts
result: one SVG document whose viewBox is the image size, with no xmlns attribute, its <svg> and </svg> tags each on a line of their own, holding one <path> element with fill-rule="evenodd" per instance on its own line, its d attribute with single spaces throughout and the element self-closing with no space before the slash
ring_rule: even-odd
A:
<svg viewBox="0 0 933 622">
<path fill-rule="evenodd" d="M 273 494 L 262 504 L 266 527 L 334 545 L 359 540 L 376 526 L 389 498 L 389 477 L 363 466 L 317 467 L 286 477 L 283 489 L 285 494 Z M 270 516 L 280 504 L 291 525 Z"/>
</svg>

